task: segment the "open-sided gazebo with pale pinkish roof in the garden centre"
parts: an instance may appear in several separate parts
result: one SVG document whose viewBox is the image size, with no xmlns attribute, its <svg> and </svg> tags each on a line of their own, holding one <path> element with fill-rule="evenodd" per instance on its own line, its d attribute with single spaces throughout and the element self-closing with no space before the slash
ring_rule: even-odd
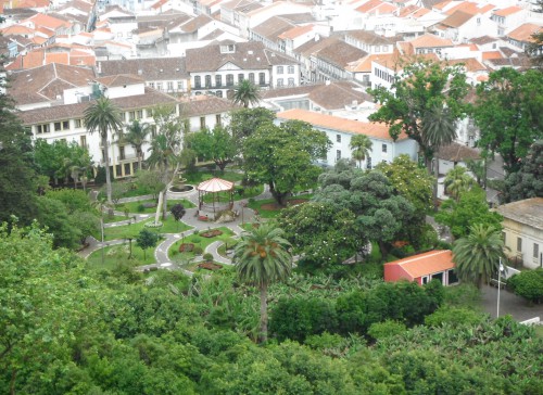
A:
<svg viewBox="0 0 543 395">
<path fill-rule="evenodd" d="M 233 182 L 220 178 L 201 182 L 198 187 L 198 214 L 207 216 L 211 214 L 213 219 L 216 214 L 233 207 Z M 210 195 L 212 199 L 205 199 Z"/>
</svg>

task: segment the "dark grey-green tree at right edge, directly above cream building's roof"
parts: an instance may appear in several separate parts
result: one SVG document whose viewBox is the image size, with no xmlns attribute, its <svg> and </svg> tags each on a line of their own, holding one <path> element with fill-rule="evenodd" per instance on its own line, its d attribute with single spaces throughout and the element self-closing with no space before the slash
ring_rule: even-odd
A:
<svg viewBox="0 0 543 395">
<path fill-rule="evenodd" d="M 543 140 L 538 140 L 532 144 L 517 173 L 505 177 L 501 197 L 504 203 L 543 197 Z"/>
</svg>

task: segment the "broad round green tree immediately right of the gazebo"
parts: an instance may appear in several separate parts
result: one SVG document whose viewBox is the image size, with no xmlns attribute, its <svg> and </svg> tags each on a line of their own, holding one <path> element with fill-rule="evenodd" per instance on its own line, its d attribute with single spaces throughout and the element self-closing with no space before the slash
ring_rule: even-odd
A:
<svg viewBox="0 0 543 395">
<path fill-rule="evenodd" d="M 304 122 L 265 124 L 244 141 L 243 168 L 250 179 L 267 183 L 285 206 L 293 191 L 316 184 L 320 168 L 314 163 L 326 157 L 330 144 L 324 131 Z"/>
</svg>

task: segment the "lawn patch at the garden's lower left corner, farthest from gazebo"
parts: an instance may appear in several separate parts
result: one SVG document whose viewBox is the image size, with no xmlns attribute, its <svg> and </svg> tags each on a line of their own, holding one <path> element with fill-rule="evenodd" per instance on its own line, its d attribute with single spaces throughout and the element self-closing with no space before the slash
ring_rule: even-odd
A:
<svg viewBox="0 0 543 395">
<path fill-rule="evenodd" d="M 94 251 L 87 258 L 87 265 L 94 270 L 113 270 L 119 263 L 129 263 L 131 266 L 154 264 L 154 249 L 147 250 L 147 258 L 143 258 L 143 250 L 132 241 L 132 258 L 127 259 L 130 253 L 128 242 L 118 245 L 111 245 L 104 250 L 104 262 L 102 265 L 102 250 Z"/>
</svg>

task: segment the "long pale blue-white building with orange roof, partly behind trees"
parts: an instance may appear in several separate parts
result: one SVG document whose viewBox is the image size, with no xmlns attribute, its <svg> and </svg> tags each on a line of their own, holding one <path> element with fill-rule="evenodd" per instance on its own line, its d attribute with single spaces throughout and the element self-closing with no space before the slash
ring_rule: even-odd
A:
<svg viewBox="0 0 543 395">
<path fill-rule="evenodd" d="M 326 166 L 333 166 L 341 158 L 352 158 L 349 145 L 351 138 L 356 135 L 366 135 L 372 143 L 371 153 L 362 163 L 364 168 L 372 168 L 381 162 L 390 163 L 402 154 L 408 155 L 413 161 L 417 160 L 417 142 L 403 133 L 394 141 L 389 135 L 389 127 L 384 124 L 344 119 L 299 109 L 277 114 L 277 122 L 279 123 L 291 119 L 306 122 L 313 125 L 315 129 L 327 133 L 332 146 L 328 150 L 327 157 L 321 163 Z"/>
</svg>

